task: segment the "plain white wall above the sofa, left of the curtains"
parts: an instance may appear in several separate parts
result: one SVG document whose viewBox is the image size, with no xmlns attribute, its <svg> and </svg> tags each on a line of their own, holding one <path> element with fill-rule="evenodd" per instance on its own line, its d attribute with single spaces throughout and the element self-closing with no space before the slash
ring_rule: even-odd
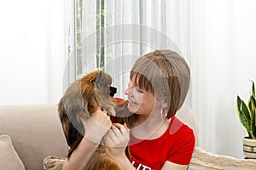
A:
<svg viewBox="0 0 256 170">
<path fill-rule="evenodd" d="M 65 65 L 64 9 L 61 0 L 1 1 L 0 105 L 58 102 Z"/>
</svg>

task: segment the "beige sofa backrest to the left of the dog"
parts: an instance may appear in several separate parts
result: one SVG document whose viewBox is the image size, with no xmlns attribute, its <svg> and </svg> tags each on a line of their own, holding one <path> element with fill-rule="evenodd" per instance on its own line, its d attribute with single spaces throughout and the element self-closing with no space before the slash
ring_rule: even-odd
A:
<svg viewBox="0 0 256 170">
<path fill-rule="evenodd" d="M 8 134 L 26 170 L 44 169 L 47 156 L 67 156 L 57 105 L 0 106 L 0 135 Z"/>
</svg>

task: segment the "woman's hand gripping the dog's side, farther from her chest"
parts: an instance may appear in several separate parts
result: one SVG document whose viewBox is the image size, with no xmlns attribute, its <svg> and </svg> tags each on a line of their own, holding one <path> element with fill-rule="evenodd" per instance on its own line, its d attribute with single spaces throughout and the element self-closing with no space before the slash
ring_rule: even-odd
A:
<svg viewBox="0 0 256 170">
<path fill-rule="evenodd" d="M 84 125 L 85 133 L 84 138 L 89 139 L 91 142 L 100 144 L 103 136 L 108 132 L 112 125 L 110 116 L 107 111 L 102 111 L 100 107 L 85 119 L 81 119 Z"/>
</svg>

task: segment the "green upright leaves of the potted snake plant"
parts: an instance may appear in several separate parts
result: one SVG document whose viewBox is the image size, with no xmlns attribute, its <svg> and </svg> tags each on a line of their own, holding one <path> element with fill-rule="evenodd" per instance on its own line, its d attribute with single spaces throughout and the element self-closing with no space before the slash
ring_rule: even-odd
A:
<svg viewBox="0 0 256 170">
<path fill-rule="evenodd" d="M 240 122 L 243 127 L 247 129 L 250 139 L 256 139 L 256 100 L 255 100 L 255 88 L 252 81 L 252 89 L 250 98 L 246 103 L 237 96 L 236 98 L 236 111 L 239 116 Z"/>
</svg>

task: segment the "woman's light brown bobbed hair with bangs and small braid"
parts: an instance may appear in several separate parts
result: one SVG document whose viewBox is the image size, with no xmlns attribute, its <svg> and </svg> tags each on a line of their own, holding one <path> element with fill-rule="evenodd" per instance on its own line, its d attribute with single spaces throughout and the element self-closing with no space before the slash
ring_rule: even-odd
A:
<svg viewBox="0 0 256 170">
<path fill-rule="evenodd" d="M 131 69 L 130 79 L 156 99 L 165 99 L 166 118 L 174 116 L 183 105 L 189 90 L 189 65 L 172 50 L 156 50 L 137 59 Z M 135 120 L 134 120 L 135 121 Z"/>
</svg>

